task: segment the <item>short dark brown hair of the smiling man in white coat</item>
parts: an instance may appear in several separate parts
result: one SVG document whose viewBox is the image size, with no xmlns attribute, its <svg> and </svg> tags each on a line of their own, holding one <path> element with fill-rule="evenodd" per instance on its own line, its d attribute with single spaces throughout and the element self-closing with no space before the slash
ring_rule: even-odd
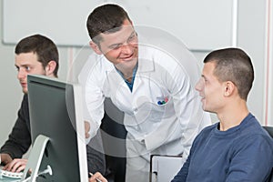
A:
<svg viewBox="0 0 273 182">
<path fill-rule="evenodd" d="M 101 33 L 113 33 L 120 30 L 124 20 L 130 18 L 126 11 L 119 5 L 107 4 L 96 7 L 88 15 L 86 26 L 90 38 L 98 44 Z"/>
</svg>

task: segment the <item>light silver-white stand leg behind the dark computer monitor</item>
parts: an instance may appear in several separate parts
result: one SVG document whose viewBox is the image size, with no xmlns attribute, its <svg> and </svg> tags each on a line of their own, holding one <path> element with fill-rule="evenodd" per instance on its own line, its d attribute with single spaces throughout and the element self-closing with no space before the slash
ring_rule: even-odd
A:
<svg viewBox="0 0 273 182">
<path fill-rule="evenodd" d="M 24 174 L 23 174 L 23 177 L 21 178 L 21 182 L 23 181 L 35 182 L 35 178 L 38 175 L 38 171 L 41 165 L 41 161 L 42 161 L 42 158 L 45 152 L 45 147 L 48 140 L 49 140 L 49 137 L 47 136 L 39 135 L 36 137 L 34 146 L 28 157 Z"/>
</svg>

